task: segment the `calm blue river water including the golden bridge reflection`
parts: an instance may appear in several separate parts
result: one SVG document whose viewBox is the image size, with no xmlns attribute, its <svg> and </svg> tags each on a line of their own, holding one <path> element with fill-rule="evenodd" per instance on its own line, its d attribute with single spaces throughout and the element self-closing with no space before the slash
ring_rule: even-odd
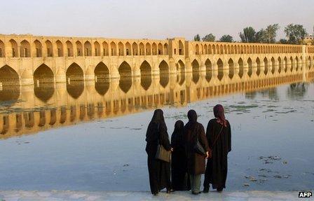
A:
<svg viewBox="0 0 314 201">
<path fill-rule="evenodd" d="M 125 88 L 110 83 L 98 90 L 53 86 L 8 93 L 12 97 L 1 102 L 0 189 L 149 190 L 144 139 L 153 109 L 163 108 L 171 135 L 176 120 L 186 123 L 189 109 L 206 127 L 217 103 L 232 126 L 228 190 L 314 189 L 313 81 L 274 87 L 280 79 L 265 78 L 256 88 L 229 85 L 228 92 L 218 92 L 205 78 L 193 78 L 170 78 L 165 86 L 125 81 Z M 112 92 L 119 88 L 125 95 L 118 98 Z M 107 106 L 109 99 L 118 106 Z"/>
</svg>

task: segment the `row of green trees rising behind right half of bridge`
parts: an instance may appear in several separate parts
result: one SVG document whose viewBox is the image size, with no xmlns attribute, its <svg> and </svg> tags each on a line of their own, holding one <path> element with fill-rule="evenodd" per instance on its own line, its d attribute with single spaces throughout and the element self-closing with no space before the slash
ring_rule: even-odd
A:
<svg viewBox="0 0 314 201">
<path fill-rule="evenodd" d="M 260 29 L 258 32 L 253 27 L 245 27 L 243 32 L 239 33 L 240 42 L 243 43 L 281 43 L 281 44 L 300 44 L 308 34 L 303 25 L 289 24 L 285 27 L 284 32 L 286 39 L 276 41 L 277 32 L 280 29 L 278 24 L 268 25 L 266 29 Z M 216 37 L 214 34 L 207 34 L 202 38 L 202 41 L 214 42 Z M 194 36 L 194 41 L 200 41 L 200 35 Z M 229 34 L 221 36 L 219 42 L 235 42 Z"/>
</svg>

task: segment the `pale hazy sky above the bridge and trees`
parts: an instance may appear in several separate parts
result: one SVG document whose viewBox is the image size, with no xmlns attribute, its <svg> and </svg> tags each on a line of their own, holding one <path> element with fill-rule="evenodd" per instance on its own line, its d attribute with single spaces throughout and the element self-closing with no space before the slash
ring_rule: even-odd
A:
<svg viewBox="0 0 314 201">
<path fill-rule="evenodd" d="M 0 34 L 192 40 L 239 39 L 244 27 L 290 23 L 313 34 L 314 0 L 11 0 L 1 2 Z"/>
</svg>

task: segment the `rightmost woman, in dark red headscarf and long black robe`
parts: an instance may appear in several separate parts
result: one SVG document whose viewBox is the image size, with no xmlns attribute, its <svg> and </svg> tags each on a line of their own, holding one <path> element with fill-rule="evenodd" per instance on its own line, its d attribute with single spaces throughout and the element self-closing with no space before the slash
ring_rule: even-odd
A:
<svg viewBox="0 0 314 201">
<path fill-rule="evenodd" d="M 214 116 L 206 131 L 208 144 L 212 148 L 212 158 L 207 160 L 204 193 L 210 190 L 210 183 L 217 191 L 226 188 L 228 152 L 231 151 L 231 127 L 224 116 L 224 107 L 220 104 L 214 106 Z"/>
</svg>

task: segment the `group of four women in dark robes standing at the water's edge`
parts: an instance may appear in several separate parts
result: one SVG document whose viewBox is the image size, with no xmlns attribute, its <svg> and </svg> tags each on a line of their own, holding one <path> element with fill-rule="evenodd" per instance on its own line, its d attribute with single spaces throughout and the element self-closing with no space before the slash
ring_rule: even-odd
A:
<svg viewBox="0 0 314 201">
<path fill-rule="evenodd" d="M 224 116 L 224 107 L 220 104 L 214 106 L 214 116 L 215 118 L 209 121 L 205 133 L 203 125 L 197 121 L 196 111 L 190 110 L 189 122 L 186 125 L 182 120 L 175 123 L 170 144 L 163 111 L 154 111 L 146 132 L 149 183 L 153 195 L 157 195 L 163 188 L 167 189 L 167 193 L 174 190 L 191 190 L 197 195 L 200 193 L 202 174 L 205 174 L 203 193 L 209 192 L 210 183 L 212 188 L 218 191 L 226 188 L 231 127 Z M 158 145 L 171 151 L 171 163 L 156 158 Z M 204 153 L 197 151 L 197 145 L 203 148 Z"/>
</svg>

